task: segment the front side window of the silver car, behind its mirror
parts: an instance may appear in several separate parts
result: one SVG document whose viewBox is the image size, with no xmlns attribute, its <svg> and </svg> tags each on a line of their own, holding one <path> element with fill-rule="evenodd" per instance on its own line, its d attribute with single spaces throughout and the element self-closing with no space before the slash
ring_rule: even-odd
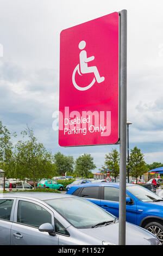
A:
<svg viewBox="0 0 163 256">
<path fill-rule="evenodd" d="M 40 205 L 20 200 L 17 222 L 39 228 L 43 223 L 52 223 L 52 216 Z"/>
</svg>

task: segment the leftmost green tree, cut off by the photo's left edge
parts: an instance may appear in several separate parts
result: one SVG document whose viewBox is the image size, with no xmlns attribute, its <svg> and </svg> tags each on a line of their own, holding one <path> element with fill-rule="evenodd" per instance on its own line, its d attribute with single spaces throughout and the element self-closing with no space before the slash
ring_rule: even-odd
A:
<svg viewBox="0 0 163 256">
<path fill-rule="evenodd" d="M 0 120 L 0 168 L 5 171 L 5 176 L 12 175 L 14 172 L 12 137 L 16 137 L 16 133 L 11 133 Z"/>
</svg>

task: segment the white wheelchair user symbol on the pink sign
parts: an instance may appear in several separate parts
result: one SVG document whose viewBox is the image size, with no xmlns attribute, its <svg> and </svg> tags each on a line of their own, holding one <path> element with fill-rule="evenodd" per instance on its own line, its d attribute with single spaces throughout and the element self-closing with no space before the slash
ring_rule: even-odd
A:
<svg viewBox="0 0 163 256">
<path fill-rule="evenodd" d="M 85 46 L 86 46 L 85 41 L 79 42 L 79 49 L 80 50 L 83 50 L 85 48 Z M 76 68 L 74 69 L 73 74 L 72 74 L 72 82 L 73 82 L 73 85 L 76 89 L 78 89 L 78 90 L 87 90 L 87 89 L 90 89 L 96 81 L 97 81 L 97 83 L 101 83 L 105 80 L 105 78 L 103 76 L 101 77 L 99 75 L 99 72 L 98 72 L 98 69 L 97 69 L 96 66 L 87 66 L 88 62 L 91 62 L 93 59 L 95 59 L 94 56 L 91 56 L 91 57 L 87 58 L 86 51 L 83 50 L 79 54 L 79 59 L 80 59 L 80 65 L 78 64 L 76 66 Z M 78 86 L 78 84 L 76 83 L 76 80 L 75 80 L 75 76 L 76 76 L 77 71 L 78 71 L 78 74 L 80 76 L 82 76 L 82 74 L 94 73 L 95 77 L 93 78 L 92 82 L 89 85 L 86 85 L 84 87 L 80 87 L 80 86 Z"/>
</svg>

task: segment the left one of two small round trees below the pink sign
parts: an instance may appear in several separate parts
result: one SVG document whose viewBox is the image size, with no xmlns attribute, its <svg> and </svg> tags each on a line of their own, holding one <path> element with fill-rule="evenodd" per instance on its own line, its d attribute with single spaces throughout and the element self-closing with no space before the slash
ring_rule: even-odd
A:
<svg viewBox="0 0 163 256">
<path fill-rule="evenodd" d="M 56 165 L 56 170 L 58 175 L 72 175 L 73 174 L 73 166 L 74 159 L 73 156 L 65 156 L 60 152 L 54 155 L 54 162 Z"/>
</svg>

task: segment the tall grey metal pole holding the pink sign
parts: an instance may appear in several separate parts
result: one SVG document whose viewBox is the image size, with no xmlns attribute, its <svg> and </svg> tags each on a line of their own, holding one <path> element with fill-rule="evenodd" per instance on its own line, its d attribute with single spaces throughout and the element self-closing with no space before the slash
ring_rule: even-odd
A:
<svg viewBox="0 0 163 256">
<path fill-rule="evenodd" d="M 120 11 L 120 209 L 119 245 L 126 244 L 127 10 Z"/>
</svg>

